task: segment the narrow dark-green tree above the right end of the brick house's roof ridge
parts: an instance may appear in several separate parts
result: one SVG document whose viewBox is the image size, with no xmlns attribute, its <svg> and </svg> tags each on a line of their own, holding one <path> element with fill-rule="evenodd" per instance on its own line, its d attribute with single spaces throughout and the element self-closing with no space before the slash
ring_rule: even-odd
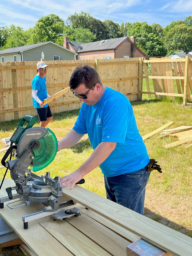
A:
<svg viewBox="0 0 192 256">
<path fill-rule="evenodd" d="M 124 33 L 123 33 L 122 29 L 120 28 L 119 24 L 113 22 L 113 20 L 104 20 L 103 24 L 105 25 L 105 28 L 108 32 L 109 39 L 124 36 Z"/>
</svg>

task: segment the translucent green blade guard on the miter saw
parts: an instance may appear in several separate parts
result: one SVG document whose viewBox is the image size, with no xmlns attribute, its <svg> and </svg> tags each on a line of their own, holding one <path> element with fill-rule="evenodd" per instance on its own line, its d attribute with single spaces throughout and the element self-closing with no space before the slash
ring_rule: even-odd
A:
<svg viewBox="0 0 192 256">
<path fill-rule="evenodd" d="M 37 172 L 49 165 L 57 154 L 57 139 L 49 129 L 42 139 L 39 139 L 39 148 L 33 149 L 34 159 L 31 164 L 31 171 Z"/>
</svg>

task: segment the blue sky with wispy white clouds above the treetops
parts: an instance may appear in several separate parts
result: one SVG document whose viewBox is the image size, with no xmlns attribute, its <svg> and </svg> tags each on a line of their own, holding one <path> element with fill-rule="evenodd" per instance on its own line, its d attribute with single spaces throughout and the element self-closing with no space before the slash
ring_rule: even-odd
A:
<svg viewBox="0 0 192 256">
<path fill-rule="evenodd" d="M 147 21 L 163 27 L 172 20 L 192 15 L 192 0 L 0 0 L 0 27 L 14 24 L 33 27 L 42 16 L 54 13 L 64 21 L 74 12 L 90 12 L 100 20 L 122 22 Z"/>
</svg>

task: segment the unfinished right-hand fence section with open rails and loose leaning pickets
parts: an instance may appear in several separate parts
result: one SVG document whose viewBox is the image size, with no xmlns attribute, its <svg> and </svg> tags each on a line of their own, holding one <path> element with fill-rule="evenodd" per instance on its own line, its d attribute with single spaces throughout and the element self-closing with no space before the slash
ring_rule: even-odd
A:
<svg viewBox="0 0 192 256">
<path fill-rule="evenodd" d="M 171 58 L 150 58 L 143 60 L 144 76 L 146 79 L 147 93 L 155 94 L 155 97 L 179 96 L 183 97 L 183 104 L 192 98 L 192 60 L 186 58 L 171 60 Z M 148 63 L 148 66 L 147 66 Z M 149 66 L 150 65 L 150 66 Z M 150 69 L 149 69 L 150 68 Z M 151 76 L 148 76 L 151 70 Z M 149 80 L 152 78 L 154 92 L 150 91 Z M 175 80 L 175 83 L 174 83 Z"/>
</svg>

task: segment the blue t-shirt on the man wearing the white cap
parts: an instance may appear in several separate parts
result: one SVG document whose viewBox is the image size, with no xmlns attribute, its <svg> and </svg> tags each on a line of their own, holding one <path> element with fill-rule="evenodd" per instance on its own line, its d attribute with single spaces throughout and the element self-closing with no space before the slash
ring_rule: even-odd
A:
<svg viewBox="0 0 192 256">
<path fill-rule="evenodd" d="M 32 80 L 32 90 L 38 90 L 37 97 L 39 100 L 43 101 L 47 99 L 47 88 L 46 88 L 46 78 L 36 75 Z M 35 108 L 41 108 L 39 103 L 33 98 L 33 106 Z M 46 108 L 48 104 L 45 104 L 43 108 Z"/>
</svg>

